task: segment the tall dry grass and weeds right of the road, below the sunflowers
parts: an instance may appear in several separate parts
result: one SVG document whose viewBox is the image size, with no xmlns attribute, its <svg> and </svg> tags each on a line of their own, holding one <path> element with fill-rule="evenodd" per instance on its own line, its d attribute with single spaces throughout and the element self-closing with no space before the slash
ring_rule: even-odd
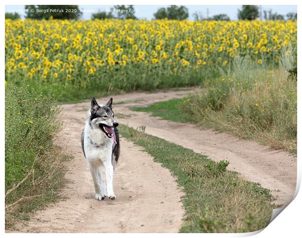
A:
<svg viewBox="0 0 302 238">
<path fill-rule="evenodd" d="M 206 81 L 202 91 L 187 98 L 132 110 L 297 153 L 296 78 L 284 73 L 283 67 L 269 70 L 246 58 L 235 60 L 233 68 L 229 75 Z"/>
</svg>

